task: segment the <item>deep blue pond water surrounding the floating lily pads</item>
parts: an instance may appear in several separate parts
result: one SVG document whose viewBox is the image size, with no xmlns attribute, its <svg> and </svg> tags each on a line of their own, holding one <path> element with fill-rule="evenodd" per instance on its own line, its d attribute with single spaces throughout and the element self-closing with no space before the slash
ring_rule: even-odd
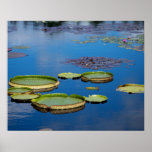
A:
<svg viewBox="0 0 152 152">
<path fill-rule="evenodd" d="M 104 23 L 103 23 L 104 24 Z M 11 102 L 8 97 L 8 130 L 144 130 L 144 94 L 127 94 L 116 91 L 126 83 L 144 84 L 144 53 L 104 45 L 103 42 L 76 44 L 72 40 L 84 40 L 93 33 L 68 31 L 44 32 L 42 25 L 32 22 L 8 23 L 15 27 L 8 33 L 8 47 L 29 46 L 28 49 L 13 49 L 28 56 L 8 59 L 8 81 L 16 75 L 50 75 L 57 77 L 62 72 L 83 73 L 92 71 L 63 62 L 69 58 L 102 56 L 134 60 L 134 65 L 107 69 L 114 80 L 104 84 L 93 84 L 78 80 L 61 80 L 58 89 L 49 93 L 102 94 L 108 97 L 104 104 L 86 103 L 83 110 L 68 114 L 42 113 L 30 103 Z M 104 35 L 118 35 L 110 31 Z M 101 69 L 102 71 L 103 69 Z M 87 86 L 99 86 L 100 90 L 86 90 Z M 45 94 L 45 93 L 42 93 Z"/>
</svg>

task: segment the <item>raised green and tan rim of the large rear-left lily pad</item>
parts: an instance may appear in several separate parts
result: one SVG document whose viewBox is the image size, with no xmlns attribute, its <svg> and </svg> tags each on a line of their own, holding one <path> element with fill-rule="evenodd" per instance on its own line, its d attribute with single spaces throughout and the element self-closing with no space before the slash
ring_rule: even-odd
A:
<svg viewBox="0 0 152 152">
<path fill-rule="evenodd" d="M 48 83 L 48 84 L 41 84 L 41 85 L 24 85 L 24 84 L 18 84 L 12 81 L 15 81 L 17 79 L 24 79 L 24 78 L 44 78 L 49 80 L 54 80 L 55 83 Z M 58 87 L 59 81 L 58 79 L 47 76 L 47 75 L 21 75 L 21 76 L 15 76 L 14 78 L 10 78 L 9 85 L 11 87 L 27 87 L 33 90 L 33 92 L 45 92 L 45 91 L 51 91 Z"/>
</svg>

